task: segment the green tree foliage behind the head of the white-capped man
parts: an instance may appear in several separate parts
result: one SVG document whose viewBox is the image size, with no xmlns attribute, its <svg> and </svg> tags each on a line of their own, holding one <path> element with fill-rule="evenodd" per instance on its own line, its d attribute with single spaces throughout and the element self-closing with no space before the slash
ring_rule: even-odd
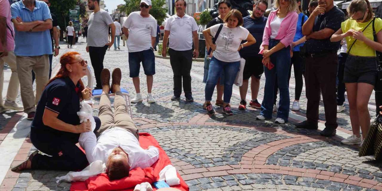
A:
<svg viewBox="0 0 382 191">
<path fill-rule="evenodd" d="M 126 15 L 134 11 L 140 11 L 139 3 L 141 0 L 125 0 L 125 6 L 121 8 L 121 11 L 125 12 Z M 152 0 L 152 8 L 150 10 L 150 15 L 157 19 L 158 24 L 162 23 L 166 18 L 167 9 L 163 8 L 166 3 L 165 0 Z"/>
</svg>

